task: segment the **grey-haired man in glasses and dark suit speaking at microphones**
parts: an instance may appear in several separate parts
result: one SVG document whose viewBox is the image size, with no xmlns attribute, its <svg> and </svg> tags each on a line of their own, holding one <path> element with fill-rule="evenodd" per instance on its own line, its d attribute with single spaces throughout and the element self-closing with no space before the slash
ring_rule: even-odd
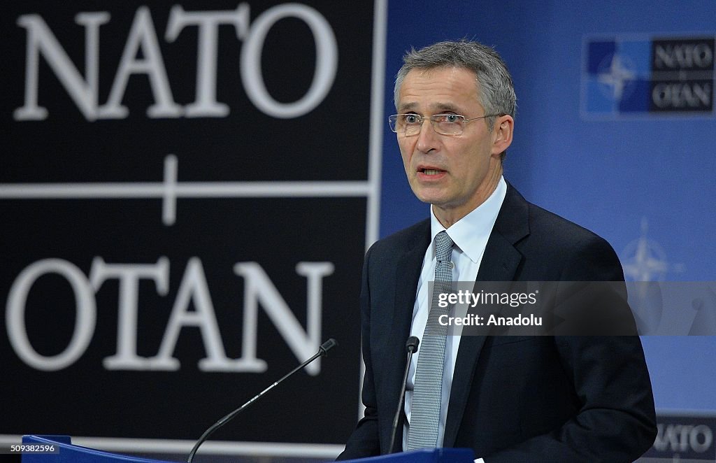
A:
<svg viewBox="0 0 716 463">
<path fill-rule="evenodd" d="M 505 182 L 516 98 L 493 49 L 441 42 L 412 50 L 404 61 L 395 83 L 399 114 L 390 124 L 410 186 L 432 205 L 431 216 L 366 255 L 366 410 L 339 459 L 426 447 L 425 439 L 427 447 L 472 448 L 476 461 L 486 463 L 637 459 L 656 434 L 637 336 L 460 336 L 450 328 L 432 379 L 418 373 L 427 368 L 420 355 L 435 355 L 432 350 L 421 345 L 414 356 L 398 437 L 389 448 L 405 340 L 417 335 L 425 344 L 426 326 L 435 324 L 428 282 L 437 280 L 439 265 L 448 262 L 455 281 L 624 280 L 604 239 L 528 203 Z M 448 257 L 436 257 L 445 247 Z M 434 413 L 428 411 L 425 428 L 419 389 L 435 377 L 437 398 L 427 407 Z M 437 429 L 417 436 L 430 428 Z"/>
</svg>

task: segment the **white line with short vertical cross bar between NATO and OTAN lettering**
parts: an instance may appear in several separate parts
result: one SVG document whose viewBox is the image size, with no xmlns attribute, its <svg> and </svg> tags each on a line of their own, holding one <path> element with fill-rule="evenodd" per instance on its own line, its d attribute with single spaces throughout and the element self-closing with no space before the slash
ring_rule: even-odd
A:
<svg viewBox="0 0 716 463">
<path fill-rule="evenodd" d="M 162 182 L 0 183 L 0 199 L 161 198 L 165 225 L 176 220 L 178 198 L 319 198 L 371 196 L 369 181 L 177 181 L 177 159 L 164 162 Z"/>
</svg>

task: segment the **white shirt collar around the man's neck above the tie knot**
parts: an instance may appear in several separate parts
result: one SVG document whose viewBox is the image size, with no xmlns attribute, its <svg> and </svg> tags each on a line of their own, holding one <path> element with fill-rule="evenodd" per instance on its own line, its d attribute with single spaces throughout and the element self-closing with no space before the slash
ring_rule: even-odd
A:
<svg viewBox="0 0 716 463">
<path fill-rule="evenodd" d="M 445 229 L 440 221 L 435 218 L 435 214 L 432 213 L 432 206 L 430 207 L 430 238 L 432 243 L 435 243 L 435 236 L 440 231 L 447 231 L 450 239 L 453 240 L 455 245 L 462 250 L 471 261 L 477 263 L 482 258 L 483 251 L 487 245 L 488 238 L 492 232 L 495 220 L 500 213 L 500 207 L 505 200 L 507 194 L 507 182 L 505 178 L 500 176 L 497 188 L 493 191 L 488 199 L 477 206 L 470 213 L 464 216 Z M 434 244 L 431 244 L 435 248 Z"/>
</svg>

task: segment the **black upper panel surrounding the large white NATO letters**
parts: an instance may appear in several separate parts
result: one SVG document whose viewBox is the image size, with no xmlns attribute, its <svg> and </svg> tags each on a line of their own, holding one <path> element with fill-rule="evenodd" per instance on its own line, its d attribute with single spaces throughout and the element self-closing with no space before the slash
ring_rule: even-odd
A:
<svg viewBox="0 0 716 463">
<path fill-rule="evenodd" d="M 3 154 L 4 163 L 11 167 L 3 169 L 3 181 L 156 181 L 153 168 L 168 153 L 179 156 L 180 176 L 185 180 L 367 178 L 372 8 L 366 2 L 304 2 L 312 4 L 329 24 L 338 56 L 326 97 L 298 118 L 274 118 L 252 104 L 241 77 L 241 54 L 247 42 L 237 37 L 233 24 L 222 23 L 215 28 L 218 56 L 214 91 L 216 102 L 228 107 L 226 117 L 148 117 L 147 108 L 156 102 L 153 86 L 147 73 L 137 72 L 128 77 L 123 93 L 127 117 L 89 123 L 47 59 L 40 57 L 37 100 L 47 108 L 47 118 L 23 123 L 13 119 L 14 110 L 23 107 L 25 101 L 28 34 L 17 22 L 30 14 L 42 17 L 82 75 L 86 28 L 76 24 L 74 16 L 89 11 L 110 14 L 110 19 L 98 27 L 97 106 L 102 108 L 117 80 L 132 24 L 140 22 L 137 11 L 143 11 L 144 5 L 173 102 L 180 108 L 195 102 L 199 28 L 187 25 L 173 42 L 165 39 L 170 10 L 177 4 L 74 1 L 68 6 L 64 2 L 26 1 L 5 6 L 1 21 L 7 37 L 0 44 L 4 60 L 1 117 L 4 127 L 11 129 L 5 130 L 4 143 L 12 149 Z M 196 1 L 181 5 L 186 14 L 234 11 L 238 5 L 245 5 L 251 24 L 255 24 L 257 16 L 285 2 Z M 150 32 L 137 35 L 147 37 Z M 258 38 L 253 42 L 258 43 Z M 137 61 L 149 48 L 140 47 Z M 274 100 L 295 102 L 306 94 L 316 69 L 315 48 L 311 29 L 301 19 L 278 19 L 269 29 L 260 55 L 261 77 Z"/>
</svg>

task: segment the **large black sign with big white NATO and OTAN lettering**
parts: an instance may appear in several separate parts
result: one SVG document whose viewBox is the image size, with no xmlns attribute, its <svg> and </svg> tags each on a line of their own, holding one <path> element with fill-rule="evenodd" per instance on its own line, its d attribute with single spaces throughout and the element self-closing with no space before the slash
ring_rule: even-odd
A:
<svg viewBox="0 0 716 463">
<path fill-rule="evenodd" d="M 195 439 L 333 337 L 216 438 L 346 439 L 372 21 L 326 2 L 6 5 L 0 434 Z"/>
</svg>

